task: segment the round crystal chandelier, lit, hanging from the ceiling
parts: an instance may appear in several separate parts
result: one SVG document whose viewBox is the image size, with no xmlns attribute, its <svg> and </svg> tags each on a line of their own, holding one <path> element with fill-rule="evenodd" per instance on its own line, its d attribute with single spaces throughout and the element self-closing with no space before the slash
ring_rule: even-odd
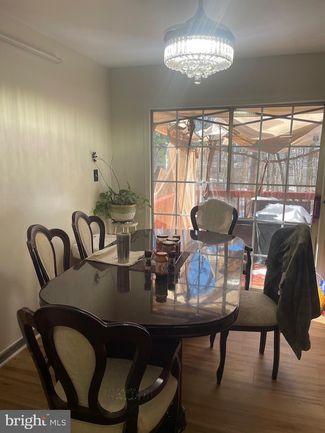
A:
<svg viewBox="0 0 325 433">
<path fill-rule="evenodd" d="M 165 31 L 164 42 L 166 66 L 194 77 L 196 84 L 233 63 L 234 35 L 228 27 L 206 16 L 203 0 L 199 0 L 192 18 Z"/>
</svg>

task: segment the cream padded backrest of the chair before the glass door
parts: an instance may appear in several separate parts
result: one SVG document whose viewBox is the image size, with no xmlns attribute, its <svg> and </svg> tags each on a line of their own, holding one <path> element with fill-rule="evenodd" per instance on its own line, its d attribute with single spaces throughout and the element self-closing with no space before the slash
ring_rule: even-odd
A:
<svg viewBox="0 0 325 433">
<path fill-rule="evenodd" d="M 228 203 L 210 198 L 194 206 L 190 218 L 194 230 L 201 228 L 231 235 L 238 219 L 238 212 Z"/>
</svg>

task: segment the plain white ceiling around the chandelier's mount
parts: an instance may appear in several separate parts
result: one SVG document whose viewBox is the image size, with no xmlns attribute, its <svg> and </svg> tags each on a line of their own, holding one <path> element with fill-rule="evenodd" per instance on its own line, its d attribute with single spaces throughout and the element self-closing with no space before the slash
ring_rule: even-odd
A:
<svg viewBox="0 0 325 433">
<path fill-rule="evenodd" d="M 232 30 L 234 62 L 325 52 L 325 0 L 204 0 L 203 6 Z M 163 64 L 164 31 L 197 7 L 197 0 L 0 0 L 0 13 L 108 68 Z"/>
</svg>

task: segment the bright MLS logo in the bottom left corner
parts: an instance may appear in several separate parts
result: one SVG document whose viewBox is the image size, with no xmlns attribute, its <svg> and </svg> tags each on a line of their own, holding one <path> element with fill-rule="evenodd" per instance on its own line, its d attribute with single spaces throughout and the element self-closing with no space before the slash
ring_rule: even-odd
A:
<svg viewBox="0 0 325 433">
<path fill-rule="evenodd" d="M 70 433 L 70 411 L 0 411 L 0 431 Z"/>
</svg>

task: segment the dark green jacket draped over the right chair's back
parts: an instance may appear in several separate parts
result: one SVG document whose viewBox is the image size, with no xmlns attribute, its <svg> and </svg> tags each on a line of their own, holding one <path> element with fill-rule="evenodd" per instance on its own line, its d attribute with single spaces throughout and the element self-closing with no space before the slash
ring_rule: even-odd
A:
<svg viewBox="0 0 325 433">
<path fill-rule="evenodd" d="M 264 293 L 278 302 L 279 328 L 298 359 L 310 349 L 311 319 L 320 315 L 314 256 L 307 224 L 277 230 L 270 243 Z"/>
</svg>

